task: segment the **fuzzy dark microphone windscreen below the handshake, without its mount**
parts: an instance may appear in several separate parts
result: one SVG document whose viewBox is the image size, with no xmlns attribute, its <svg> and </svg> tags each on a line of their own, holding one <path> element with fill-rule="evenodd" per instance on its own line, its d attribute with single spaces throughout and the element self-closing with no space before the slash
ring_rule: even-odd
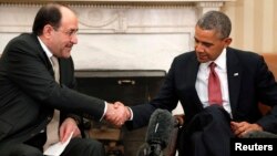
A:
<svg viewBox="0 0 277 156">
<path fill-rule="evenodd" d="M 157 108 L 150 118 L 146 132 L 146 143 L 161 144 L 162 148 L 165 148 L 170 142 L 173 128 L 174 117 L 171 112 Z"/>
</svg>

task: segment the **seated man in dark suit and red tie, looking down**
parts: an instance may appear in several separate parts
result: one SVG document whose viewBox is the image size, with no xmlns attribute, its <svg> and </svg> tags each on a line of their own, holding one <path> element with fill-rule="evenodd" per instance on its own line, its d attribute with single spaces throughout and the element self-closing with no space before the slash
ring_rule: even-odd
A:
<svg viewBox="0 0 277 156">
<path fill-rule="evenodd" d="M 230 30 L 226 14 L 206 12 L 195 27 L 195 51 L 174 59 L 156 97 L 150 104 L 132 106 L 126 125 L 145 126 L 156 108 L 173 111 L 179 102 L 185 112 L 178 138 L 181 156 L 228 156 L 230 137 L 250 131 L 277 133 L 275 77 L 259 54 L 229 48 Z M 212 62 L 220 82 L 218 102 L 208 98 Z M 261 116 L 259 102 L 273 111 Z"/>
</svg>

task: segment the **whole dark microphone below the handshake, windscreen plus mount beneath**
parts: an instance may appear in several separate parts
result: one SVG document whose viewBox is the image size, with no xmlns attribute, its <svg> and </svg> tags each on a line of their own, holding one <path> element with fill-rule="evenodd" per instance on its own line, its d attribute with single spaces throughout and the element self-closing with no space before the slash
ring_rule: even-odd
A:
<svg viewBox="0 0 277 156">
<path fill-rule="evenodd" d="M 150 118 L 145 143 L 137 150 L 137 156 L 164 156 L 175 119 L 166 110 L 157 108 Z"/>
</svg>

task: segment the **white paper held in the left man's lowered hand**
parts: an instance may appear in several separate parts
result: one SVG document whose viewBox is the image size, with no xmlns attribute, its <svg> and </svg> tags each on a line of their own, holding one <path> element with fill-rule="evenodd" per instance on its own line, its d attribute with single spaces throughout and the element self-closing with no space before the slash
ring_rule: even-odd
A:
<svg viewBox="0 0 277 156">
<path fill-rule="evenodd" d="M 70 137 L 64 143 L 58 142 L 58 143 L 49 146 L 49 148 L 45 149 L 43 155 L 47 155 L 47 156 L 60 156 L 62 154 L 62 152 L 64 150 L 64 148 L 68 146 L 72 135 L 73 135 L 73 132 L 70 134 Z"/>
</svg>

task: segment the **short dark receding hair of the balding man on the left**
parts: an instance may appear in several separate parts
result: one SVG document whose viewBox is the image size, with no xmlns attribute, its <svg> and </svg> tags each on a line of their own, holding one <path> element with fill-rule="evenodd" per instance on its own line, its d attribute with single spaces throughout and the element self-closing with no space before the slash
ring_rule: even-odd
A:
<svg viewBox="0 0 277 156">
<path fill-rule="evenodd" d="M 62 18 L 60 8 L 61 4 L 57 3 L 50 3 L 40 8 L 33 21 L 32 32 L 37 35 L 41 35 L 43 28 L 47 24 L 58 29 L 61 24 Z"/>
</svg>

